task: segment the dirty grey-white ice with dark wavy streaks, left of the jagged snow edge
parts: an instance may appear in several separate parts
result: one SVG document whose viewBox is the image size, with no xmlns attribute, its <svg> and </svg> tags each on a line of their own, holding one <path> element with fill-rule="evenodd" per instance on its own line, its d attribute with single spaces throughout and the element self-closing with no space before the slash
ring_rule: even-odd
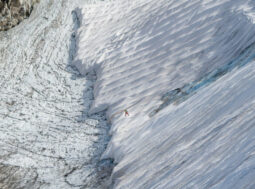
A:
<svg viewBox="0 0 255 189">
<path fill-rule="evenodd" d="M 111 171 L 104 112 L 88 115 L 96 77 L 70 66 L 76 3 L 43 0 L 0 32 L 1 189 L 102 188 Z"/>
</svg>

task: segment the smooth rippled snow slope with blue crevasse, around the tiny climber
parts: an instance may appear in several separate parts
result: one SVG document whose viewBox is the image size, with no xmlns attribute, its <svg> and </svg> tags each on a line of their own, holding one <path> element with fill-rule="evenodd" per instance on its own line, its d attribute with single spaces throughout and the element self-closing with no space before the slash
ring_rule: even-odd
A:
<svg viewBox="0 0 255 189">
<path fill-rule="evenodd" d="M 112 123 L 114 188 L 255 187 L 254 5 L 83 5 L 74 64 L 97 74 L 90 112 Z"/>
</svg>

